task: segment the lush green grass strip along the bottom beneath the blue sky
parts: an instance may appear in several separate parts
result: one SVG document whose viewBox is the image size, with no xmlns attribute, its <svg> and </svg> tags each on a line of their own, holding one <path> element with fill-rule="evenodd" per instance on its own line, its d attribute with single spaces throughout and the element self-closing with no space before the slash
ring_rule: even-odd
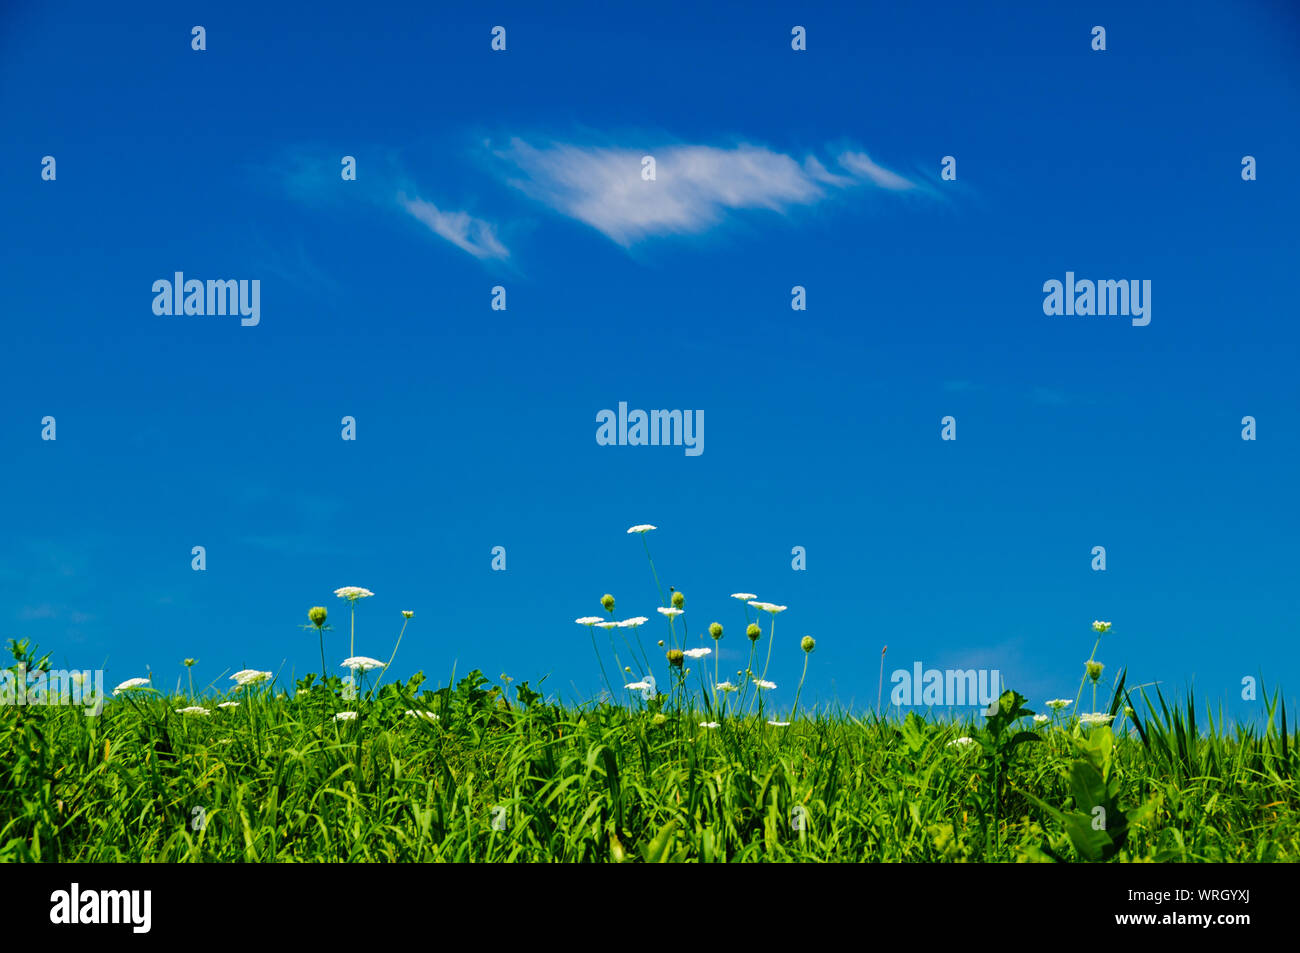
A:
<svg viewBox="0 0 1300 953">
<path fill-rule="evenodd" d="M 560 706 L 478 672 L 355 701 L 312 677 L 224 710 L 148 689 L 99 718 L 10 706 L 0 861 L 1300 859 L 1282 706 L 1228 731 L 1119 683 L 1114 731 L 1035 725 L 1014 693 L 965 723 L 822 711 L 710 729 L 684 680 L 649 703 Z M 194 703 L 212 714 L 174 711 Z"/>
</svg>

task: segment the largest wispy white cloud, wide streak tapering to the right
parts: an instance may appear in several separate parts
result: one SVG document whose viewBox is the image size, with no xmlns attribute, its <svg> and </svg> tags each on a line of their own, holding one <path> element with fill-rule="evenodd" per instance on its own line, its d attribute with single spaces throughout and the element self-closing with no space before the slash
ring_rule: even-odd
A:
<svg viewBox="0 0 1300 953">
<path fill-rule="evenodd" d="M 655 179 L 641 177 L 655 157 Z M 759 146 L 670 146 L 638 151 L 514 139 L 498 159 L 525 195 L 599 230 L 623 246 L 664 234 L 703 231 L 729 212 L 785 213 L 861 186 L 905 191 L 915 185 L 862 152 L 842 152 L 836 172 L 815 156 L 803 161 Z"/>
</svg>

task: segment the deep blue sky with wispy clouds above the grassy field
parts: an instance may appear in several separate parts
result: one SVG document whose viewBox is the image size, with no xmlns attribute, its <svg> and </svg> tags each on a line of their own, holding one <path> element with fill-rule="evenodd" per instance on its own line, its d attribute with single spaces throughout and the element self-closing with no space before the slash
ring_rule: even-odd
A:
<svg viewBox="0 0 1300 953">
<path fill-rule="evenodd" d="M 1093 619 L 1106 681 L 1295 699 L 1292 8 L 264 7 L 0 14 L 0 634 L 287 677 L 360 585 L 361 654 L 410 608 L 399 672 L 589 696 L 572 620 L 655 615 L 653 523 L 723 671 L 729 593 L 789 606 L 779 705 L 803 634 L 805 699 L 872 705 L 883 644 L 1072 697 Z M 257 326 L 155 315 L 178 270 Z M 1150 324 L 1044 315 L 1066 272 Z M 620 400 L 705 451 L 598 446 Z"/>
</svg>

